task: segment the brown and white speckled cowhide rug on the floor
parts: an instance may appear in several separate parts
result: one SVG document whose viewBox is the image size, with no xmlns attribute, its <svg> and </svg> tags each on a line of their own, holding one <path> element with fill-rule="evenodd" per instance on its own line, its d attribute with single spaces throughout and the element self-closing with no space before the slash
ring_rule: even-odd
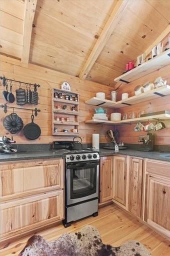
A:
<svg viewBox="0 0 170 256">
<path fill-rule="evenodd" d="M 102 243 L 98 230 L 86 225 L 79 232 L 62 234 L 47 242 L 40 235 L 31 236 L 18 256 L 148 256 L 148 250 L 138 241 L 128 241 L 118 247 Z"/>
</svg>

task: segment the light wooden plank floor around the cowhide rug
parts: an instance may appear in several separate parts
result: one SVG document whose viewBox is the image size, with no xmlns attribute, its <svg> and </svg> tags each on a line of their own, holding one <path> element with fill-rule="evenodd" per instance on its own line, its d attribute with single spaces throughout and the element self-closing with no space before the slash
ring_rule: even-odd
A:
<svg viewBox="0 0 170 256">
<path fill-rule="evenodd" d="M 100 208 L 97 217 L 89 217 L 77 221 L 67 228 L 59 224 L 45 229 L 39 234 L 47 240 L 54 240 L 62 233 L 75 231 L 86 224 L 91 224 L 98 228 L 104 243 L 120 245 L 125 241 L 135 239 L 143 243 L 152 256 L 170 255 L 170 241 L 167 241 L 113 204 Z M 18 252 L 23 248 L 29 237 L 30 235 L 8 244 L 7 247 L 0 250 L 0 256 L 18 255 Z"/>
</svg>

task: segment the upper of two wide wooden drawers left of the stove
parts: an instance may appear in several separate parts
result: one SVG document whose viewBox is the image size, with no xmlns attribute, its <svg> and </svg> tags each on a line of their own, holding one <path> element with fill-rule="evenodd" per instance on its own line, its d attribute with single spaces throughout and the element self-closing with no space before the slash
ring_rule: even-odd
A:
<svg viewBox="0 0 170 256">
<path fill-rule="evenodd" d="M 25 166 L 26 165 L 26 166 Z M 0 166 L 0 196 L 32 195 L 63 188 L 63 160 L 40 160 Z M 11 196 L 13 195 L 13 196 Z"/>
</svg>

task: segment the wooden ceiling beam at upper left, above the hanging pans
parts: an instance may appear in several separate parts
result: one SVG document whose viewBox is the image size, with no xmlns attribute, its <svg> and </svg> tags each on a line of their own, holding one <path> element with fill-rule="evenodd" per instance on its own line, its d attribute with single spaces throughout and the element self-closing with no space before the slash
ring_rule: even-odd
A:
<svg viewBox="0 0 170 256">
<path fill-rule="evenodd" d="M 23 44 L 21 62 L 25 65 L 29 61 L 30 40 L 32 33 L 32 23 L 35 14 L 37 0 L 24 1 L 24 19 L 23 19 Z"/>
</svg>

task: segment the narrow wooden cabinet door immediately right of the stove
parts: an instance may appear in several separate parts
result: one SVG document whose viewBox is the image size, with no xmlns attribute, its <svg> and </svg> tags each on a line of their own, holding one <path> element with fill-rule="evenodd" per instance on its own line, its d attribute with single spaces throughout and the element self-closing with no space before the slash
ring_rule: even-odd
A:
<svg viewBox="0 0 170 256">
<path fill-rule="evenodd" d="M 112 156 L 100 158 L 100 202 L 112 199 Z"/>
</svg>

